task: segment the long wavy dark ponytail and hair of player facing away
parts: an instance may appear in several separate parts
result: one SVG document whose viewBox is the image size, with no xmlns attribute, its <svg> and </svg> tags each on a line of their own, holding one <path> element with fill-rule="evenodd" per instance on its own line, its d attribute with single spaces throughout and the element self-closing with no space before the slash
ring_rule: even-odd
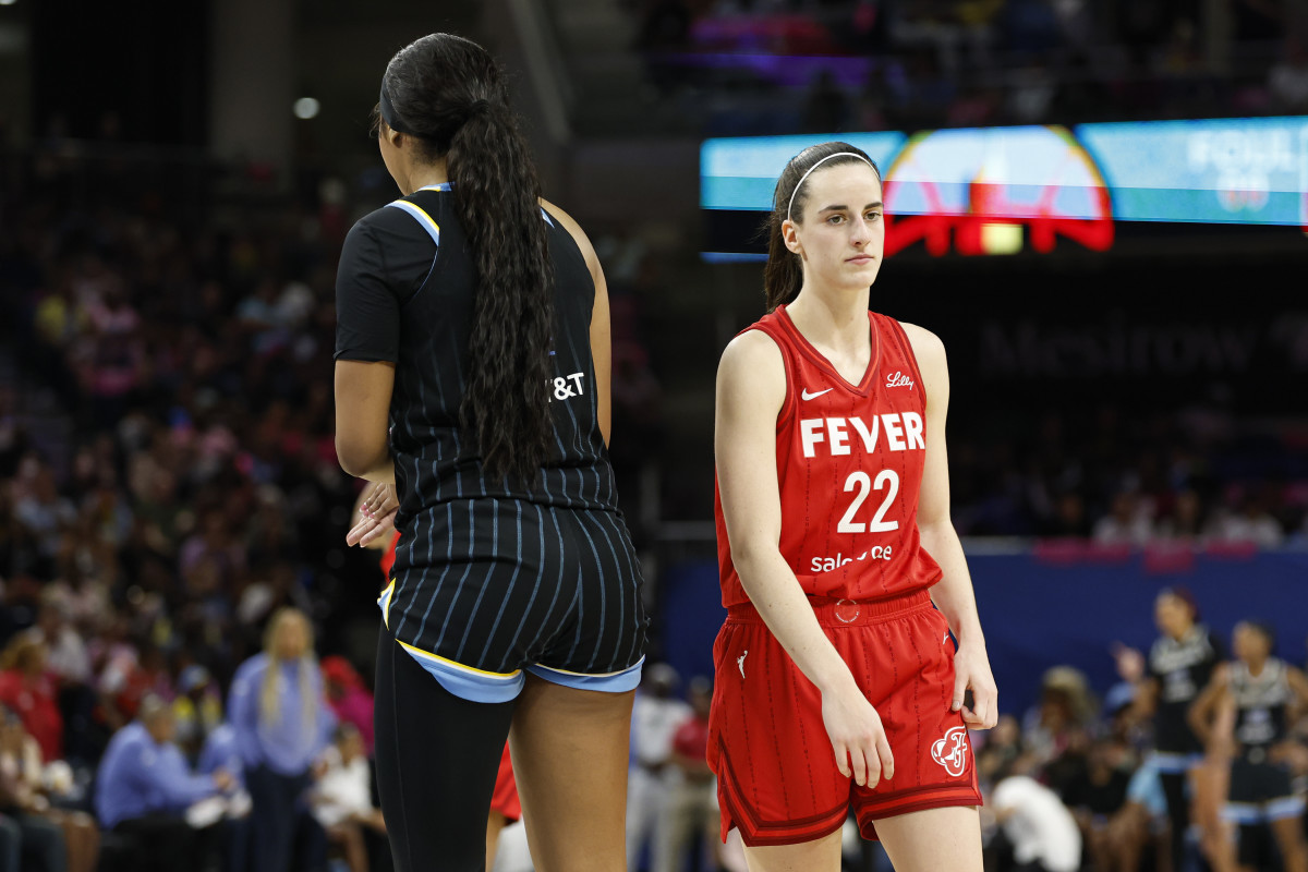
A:
<svg viewBox="0 0 1308 872">
<path fill-rule="evenodd" d="M 553 276 L 540 180 L 504 76 L 476 43 L 432 34 L 391 59 L 382 89 L 395 129 L 446 158 L 476 271 L 459 425 L 489 476 L 530 481 L 553 451 Z"/>
</svg>

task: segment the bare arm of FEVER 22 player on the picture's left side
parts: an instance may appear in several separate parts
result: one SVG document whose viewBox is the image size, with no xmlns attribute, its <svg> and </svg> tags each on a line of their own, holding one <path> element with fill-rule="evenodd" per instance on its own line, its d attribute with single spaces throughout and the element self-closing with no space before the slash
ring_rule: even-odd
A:
<svg viewBox="0 0 1308 872">
<path fill-rule="evenodd" d="M 821 693 L 823 722 L 841 774 L 875 786 L 895 774 L 880 716 L 781 556 L 777 416 L 785 399 L 786 371 L 776 343 L 759 331 L 734 339 L 718 365 L 714 425 L 731 562 L 768 629 Z"/>
</svg>

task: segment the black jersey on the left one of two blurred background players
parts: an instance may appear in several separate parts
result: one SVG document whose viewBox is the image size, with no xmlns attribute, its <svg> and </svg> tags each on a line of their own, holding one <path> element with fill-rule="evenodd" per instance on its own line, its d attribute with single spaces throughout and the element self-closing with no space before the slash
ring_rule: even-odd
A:
<svg viewBox="0 0 1308 872">
<path fill-rule="evenodd" d="M 1158 681 L 1155 741 L 1159 750 L 1203 750 L 1186 714 L 1220 660 L 1222 642 L 1202 624 L 1190 628 L 1180 639 L 1164 635 L 1154 642 L 1148 652 L 1148 672 Z"/>
</svg>

